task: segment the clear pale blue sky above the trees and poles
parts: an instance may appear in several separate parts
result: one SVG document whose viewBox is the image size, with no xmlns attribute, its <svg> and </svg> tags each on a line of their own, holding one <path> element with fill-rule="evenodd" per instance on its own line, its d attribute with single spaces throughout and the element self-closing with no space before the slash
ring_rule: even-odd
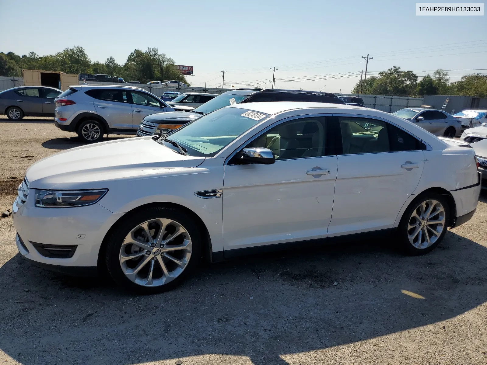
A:
<svg viewBox="0 0 487 365">
<path fill-rule="evenodd" d="M 458 0 L 457 0 L 458 1 Z M 18 1 L 0 0 L 0 51 L 54 54 L 82 46 L 92 61 L 124 63 L 156 47 L 194 67 L 194 86 L 350 92 L 392 66 L 452 80 L 487 73 L 485 16 L 419 17 L 415 1 Z M 294 80 L 286 82 L 286 80 Z"/>
</svg>

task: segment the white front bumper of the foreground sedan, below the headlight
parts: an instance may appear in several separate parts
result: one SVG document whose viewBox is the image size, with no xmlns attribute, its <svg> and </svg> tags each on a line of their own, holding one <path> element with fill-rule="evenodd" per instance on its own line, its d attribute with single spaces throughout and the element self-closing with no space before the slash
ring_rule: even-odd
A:
<svg viewBox="0 0 487 365">
<path fill-rule="evenodd" d="M 22 205 L 17 202 L 14 205 L 12 218 L 20 254 L 39 264 L 68 267 L 68 271 L 97 266 L 106 233 L 123 215 L 114 214 L 98 203 L 73 208 L 39 208 L 35 206 L 34 189 L 29 190 Z M 39 244 L 76 248 L 71 257 L 49 257 L 38 249 Z"/>
</svg>

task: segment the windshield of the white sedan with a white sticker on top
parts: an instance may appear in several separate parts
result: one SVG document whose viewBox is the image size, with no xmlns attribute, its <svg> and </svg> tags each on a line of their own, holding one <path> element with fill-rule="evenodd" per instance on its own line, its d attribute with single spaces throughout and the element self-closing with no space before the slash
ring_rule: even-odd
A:
<svg viewBox="0 0 487 365">
<path fill-rule="evenodd" d="M 177 152 L 179 149 L 165 141 L 167 138 L 179 144 L 189 156 L 212 157 L 266 117 L 266 114 L 247 109 L 223 108 L 176 129 L 157 142 Z"/>
</svg>

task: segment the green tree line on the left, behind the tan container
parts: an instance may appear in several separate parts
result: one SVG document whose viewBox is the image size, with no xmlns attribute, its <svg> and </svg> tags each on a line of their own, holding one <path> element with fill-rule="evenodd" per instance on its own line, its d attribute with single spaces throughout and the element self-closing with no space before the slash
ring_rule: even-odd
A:
<svg viewBox="0 0 487 365">
<path fill-rule="evenodd" d="M 64 73 L 105 73 L 123 77 L 125 81 L 178 80 L 189 86 L 172 58 L 160 54 L 157 48 L 133 50 L 127 61 L 120 65 L 110 56 L 105 62 L 92 62 L 83 47 L 66 48 L 55 55 L 39 56 L 35 52 L 16 55 L 0 52 L 0 76 L 22 76 L 22 69 L 61 71 Z"/>
</svg>

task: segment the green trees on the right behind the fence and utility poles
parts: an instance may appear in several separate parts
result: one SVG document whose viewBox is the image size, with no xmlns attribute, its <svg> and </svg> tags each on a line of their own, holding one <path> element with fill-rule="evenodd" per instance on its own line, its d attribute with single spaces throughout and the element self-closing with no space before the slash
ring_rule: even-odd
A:
<svg viewBox="0 0 487 365">
<path fill-rule="evenodd" d="M 487 75 L 473 73 L 462 76 L 459 81 L 450 82 L 450 75 L 442 69 L 432 76 L 427 74 L 418 82 L 418 76 L 412 71 L 402 71 L 393 66 L 377 76 L 358 81 L 352 93 L 368 95 L 466 95 L 487 97 Z"/>
</svg>

